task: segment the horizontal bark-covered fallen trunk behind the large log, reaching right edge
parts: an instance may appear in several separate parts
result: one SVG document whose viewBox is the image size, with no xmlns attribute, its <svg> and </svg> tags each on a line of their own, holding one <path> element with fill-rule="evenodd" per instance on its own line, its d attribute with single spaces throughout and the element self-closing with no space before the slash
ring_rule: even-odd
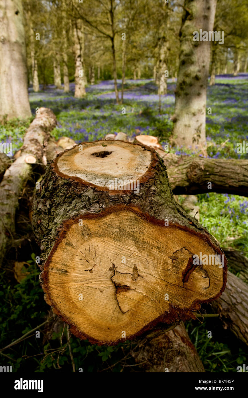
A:
<svg viewBox="0 0 248 398">
<path fill-rule="evenodd" d="M 159 149 L 158 153 L 175 195 L 218 192 L 248 196 L 248 160 L 177 156 Z"/>
</svg>

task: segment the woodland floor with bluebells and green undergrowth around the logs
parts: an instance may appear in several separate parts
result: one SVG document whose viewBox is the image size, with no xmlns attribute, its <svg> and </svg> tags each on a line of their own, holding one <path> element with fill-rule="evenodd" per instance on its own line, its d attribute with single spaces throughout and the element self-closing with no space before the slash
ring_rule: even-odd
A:
<svg viewBox="0 0 248 398">
<path fill-rule="evenodd" d="M 120 87 L 121 82 L 118 82 Z M 126 81 L 123 105 L 115 104 L 113 81 L 110 80 L 88 86 L 85 99 L 73 97 L 74 84 L 70 84 L 69 94 L 48 86 L 39 93 L 30 90 L 29 98 L 33 115 L 35 109 L 42 106 L 51 108 L 56 114 L 59 125 L 52 133 L 56 139 L 66 136 L 76 142 L 92 141 L 101 139 L 108 133 L 123 131 L 131 137 L 138 134 L 155 135 L 163 145 L 168 143 L 172 129 L 170 116 L 173 114 L 175 88 L 176 84 L 169 79 L 168 94 L 161 97 L 160 114 L 156 86 L 152 80 L 144 79 Z M 121 113 L 123 107 L 126 108 L 125 115 Z M 215 86 L 208 88 L 207 107 L 212 109 L 212 114 L 207 115 L 208 156 L 248 158 L 248 154 L 236 153 L 236 144 L 248 141 L 248 74 L 240 74 L 236 78 L 231 75 L 217 76 Z M 14 152 L 20 148 L 29 123 L 30 120 L 5 123 L 0 126 L 0 140 L 12 142 Z M 185 152 L 183 148 L 172 148 L 171 151 L 203 156 L 200 149 Z M 248 256 L 247 198 L 210 192 L 198 195 L 198 200 L 201 224 L 219 240 L 221 246 L 241 250 Z M 0 304 L 1 347 L 41 324 L 47 314 L 48 306 L 39 286 L 35 256 L 37 253 L 33 253 L 32 258 L 25 259 L 30 263 L 29 275 L 21 283 L 16 284 L 14 280 L 9 283 L 5 273 L 0 277 L 0 296 L 4 298 Z M 205 309 L 208 311 L 209 308 Z M 236 372 L 236 367 L 248 360 L 247 347 L 242 346 L 228 330 L 224 330 L 217 318 L 207 318 L 203 323 L 199 320 L 187 322 L 186 327 L 206 371 Z M 212 338 L 207 337 L 209 330 Z M 6 350 L 6 355 L 12 359 L 8 363 L 8 358 L 5 357 L 4 364 L 13 365 L 13 371 L 17 371 L 20 366 L 24 371 L 72 371 L 68 347 L 61 351 L 57 363 L 57 350 L 66 345 L 66 339 L 62 346 L 60 344 L 61 331 L 54 333 L 52 340 L 47 340 L 47 336 L 44 336 L 40 339 L 31 336 L 13 349 Z M 72 337 L 76 369 L 82 367 L 86 372 L 120 372 L 122 369 L 127 372 L 140 371 L 137 366 L 129 367 L 134 364 L 129 355 L 133 344 L 127 342 L 116 347 L 98 347 Z M 57 352 L 53 352 L 55 350 Z"/>
</svg>

